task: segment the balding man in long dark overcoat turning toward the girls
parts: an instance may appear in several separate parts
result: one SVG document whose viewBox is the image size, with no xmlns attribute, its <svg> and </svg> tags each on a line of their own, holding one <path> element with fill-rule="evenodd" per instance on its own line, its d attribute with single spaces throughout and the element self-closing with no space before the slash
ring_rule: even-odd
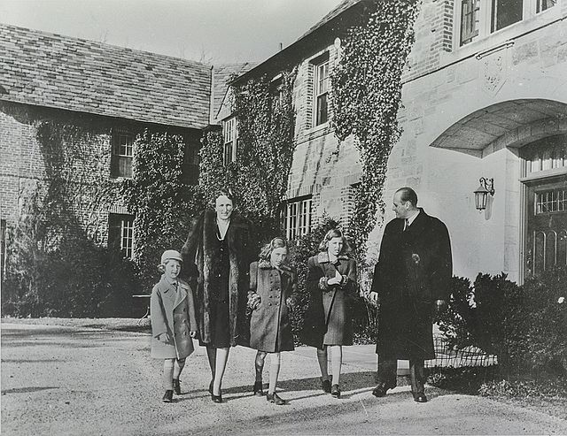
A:
<svg viewBox="0 0 567 436">
<path fill-rule="evenodd" d="M 370 298 L 379 301 L 378 385 L 384 396 L 396 386 L 397 360 L 409 360 L 416 402 L 423 393 L 423 361 L 434 359 L 432 315 L 446 305 L 452 276 L 447 227 L 417 207 L 416 192 L 401 187 L 393 196 L 396 218 L 384 228 Z"/>
</svg>

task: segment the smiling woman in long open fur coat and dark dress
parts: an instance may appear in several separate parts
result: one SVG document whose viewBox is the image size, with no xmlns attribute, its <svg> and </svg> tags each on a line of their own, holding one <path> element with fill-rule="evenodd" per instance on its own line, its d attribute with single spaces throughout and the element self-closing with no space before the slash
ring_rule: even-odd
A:
<svg viewBox="0 0 567 436">
<path fill-rule="evenodd" d="M 216 196 L 214 210 L 196 219 L 183 245 L 183 262 L 197 281 L 199 342 L 206 346 L 212 380 L 209 392 L 222 402 L 221 382 L 229 349 L 248 345 L 248 272 L 253 253 L 251 226 L 233 210 L 228 191 Z"/>
</svg>

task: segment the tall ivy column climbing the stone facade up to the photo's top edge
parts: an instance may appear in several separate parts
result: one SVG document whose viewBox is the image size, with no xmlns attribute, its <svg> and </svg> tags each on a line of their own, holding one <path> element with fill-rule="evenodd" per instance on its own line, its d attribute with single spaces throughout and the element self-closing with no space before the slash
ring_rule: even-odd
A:
<svg viewBox="0 0 567 436">
<path fill-rule="evenodd" d="M 384 213 L 388 157 L 400 137 L 401 73 L 414 42 L 419 0 L 377 2 L 368 18 L 349 29 L 332 82 L 331 122 L 339 141 L 353 134 L 362 176 L 350 229 L 359 256 Z"/>
</svg>

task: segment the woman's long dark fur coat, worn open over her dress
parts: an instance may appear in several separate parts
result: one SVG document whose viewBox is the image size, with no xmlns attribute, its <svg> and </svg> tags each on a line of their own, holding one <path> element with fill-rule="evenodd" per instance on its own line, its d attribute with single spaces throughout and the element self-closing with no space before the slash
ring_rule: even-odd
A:
<svg viewBox="0 0 567 436">
<path fill-rule="evenodd" d="M 209 344 L 214 337 L 215 320 L 212 319 L 215 294 L 221 291 L 219 253 L 217 243 L 216 212 L 207 209 L 193 221 L 187 241 L 183 245 L 183 274 L 195 285 L 195 303 L 198 317 L 199 340 Z M 232 212 L 224 237 L 229 249 L 229 342 L 231 346 L 248 345 L 250 330 L 246 319 L 246 302 L 250 284 L 249 268 L 255 246 L 252 243 L 252 226 L 237 212 Z M 224 272 L 222 272 L 224 273 Z"/>
</svg>

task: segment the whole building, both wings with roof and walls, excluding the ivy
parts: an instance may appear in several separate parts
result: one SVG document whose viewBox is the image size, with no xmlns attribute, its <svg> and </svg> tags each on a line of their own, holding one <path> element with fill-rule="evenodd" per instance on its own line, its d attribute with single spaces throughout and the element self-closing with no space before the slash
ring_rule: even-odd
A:
<svg viewBox="0 0 567 436">
<path fill-rule="evenodd" d="M 276 83 L 278 72 L 293 67 L 296 149 L 284 231 L 290 238 L 307 233 L 324 214 L 347 227 L 361 165 L 353 140 L 338 148 L 332 132 L 329 73 L 346 29 L 371 5 L 343 1 L 255 66 L 213 68 L 0 27 L 3 229 L 18 213 L 22 188 L 41 178 L 37 119 L 96 122 L 109 177 L 128 169 L 131 150 L 121 132 L 146 125 L 178 129 L 197 149 L 202 130 L 221 124 L 225 158 L 232 159 L 238 136 L 225 95 L 229 73 L 240 74 L 236 83 L 272 73 Z M 393 192 L 414 187 L 419 205 L 447 223 L 456 275 L 506 272 L 521 282 L 567 263 L 566 18 L 567 0 L 423 0 L 420 6 L 402 78 L 403 134 L 388 162 L 384 220 L 393 217 Z M 195 164 L 194 153 L 188 156 Z M 478 189 L 481 178 L 489 183 Z M 479 197 L 484 191 L 480 210 L 475 191 Z M 128 218 L 124 212 L 105 213 Z M 377 226 L 370 254 L 379 239 Z"/>
</svg>

